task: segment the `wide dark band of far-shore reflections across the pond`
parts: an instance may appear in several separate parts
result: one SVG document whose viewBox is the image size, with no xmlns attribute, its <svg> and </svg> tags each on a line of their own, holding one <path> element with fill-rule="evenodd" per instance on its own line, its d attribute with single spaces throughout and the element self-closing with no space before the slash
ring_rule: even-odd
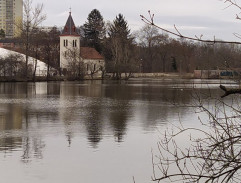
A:
<svg viewBox="0 0 241 183">
<path fill-rule="evenodd" d="M 98 149 L 108 137 L 124 142 L 132 128 L 152 133 L 190 114 L 189 108 L 171 105 L 192 103 L 194 84 L 182 82 L 0 83 L 0 150 L 22 151 L 22 161 L 29 162 L 44 157 L 48 136 L 64 136 L 68 147 L 74 137 L 83 137 Z"/>
</svg>

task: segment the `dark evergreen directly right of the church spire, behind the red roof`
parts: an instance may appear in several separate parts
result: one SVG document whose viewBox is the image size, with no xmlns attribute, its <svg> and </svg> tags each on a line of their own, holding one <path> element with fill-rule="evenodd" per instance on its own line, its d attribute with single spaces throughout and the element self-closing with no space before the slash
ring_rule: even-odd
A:
<svg viewBox="0 0 241 183">
<path fill-rule="evenodd" d="M 97 51 L 101 52 L 102 40 L 105 36 L 104 26 L 105 23 L 99 10 L 93 9 L 83 26 L 85 45 L 94 47 Z"/>
</svg>

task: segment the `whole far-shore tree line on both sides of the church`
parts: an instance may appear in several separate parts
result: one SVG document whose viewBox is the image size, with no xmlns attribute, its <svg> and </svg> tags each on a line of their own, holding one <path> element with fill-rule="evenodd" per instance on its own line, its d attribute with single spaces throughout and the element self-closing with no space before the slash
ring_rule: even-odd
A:
<svg viewBox="0 0 241 183">
<path fill-rule="evenodd" d="M 47 78 L 50 68 L 60 71 L 59 36 L 61 31 L 53 27 L 51 31 L 39 28 L 46 16 L 39 5 L 30 12 L 30 0 L 25 0 L 25 18 L 21 24 L 21 34 L 17 38 L 24 46 L 20 52 L 26 55 L 25 77 L 35 78 L 36 65 L 29 67 L 28 56 L 44 61 Z M 133 72 L 179 72 L 194 70 L 217 70 L 240 67 L 241 47 L 235 44 L 211 44 L 194 42 L 182 38 L 175 39 L 156 27 L 144 25 L 138 31 L 131 31 L 124 15 L 118 14 L 112 22 L 104 21 L 100 11 L 93 9 L 86 22 L 78 27 L 81 46 L 95 48 L 105 58 L 105 72 L 112 77 L 129 78 Z M 76 64 L 74 64 L 76 65 Z"/>
</svg>

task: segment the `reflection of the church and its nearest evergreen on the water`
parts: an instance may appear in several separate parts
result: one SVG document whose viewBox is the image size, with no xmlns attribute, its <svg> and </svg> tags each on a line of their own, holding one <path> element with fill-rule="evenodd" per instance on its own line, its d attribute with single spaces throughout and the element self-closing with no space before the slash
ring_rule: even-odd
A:
<svg viewBox="0 0 241 183">
<path fill-rule="evenodd" d="M 84 87 L 72 83 L 69 85 L 61 85 L 60 88 L 60 103 L 62 107 L 60 109 L 60 118 L 65 124 L 66 136 L 71 143 L 72 132 L 71 126 L 76 123 L 82 123 L 85 125 L 87 130 L 87 138 L 91 143 L 92 147 L 97 147 L 97 144 L 101 140 L 102 126 L 103 126 L 103 112 L 102 112 L 102 102 L 95 101 L 81 101 L 79 96 L 85 97 L 100 97 L 103 95 L 102 85 L 96 84 L 96 81 L 90 81 L 88 85 Z M 76 98 L 76 101 L 74 100 Z M 89 102 L 90 101 L 90 102 Z M 76 102 L 76 103 L 75 103 Z M 78 103 L 80 102 L 80 103 Z M 73 104 L 74 105 L 70 105 Z M 84 107 L 82 106 L 84 105 Z"/>
</svg>

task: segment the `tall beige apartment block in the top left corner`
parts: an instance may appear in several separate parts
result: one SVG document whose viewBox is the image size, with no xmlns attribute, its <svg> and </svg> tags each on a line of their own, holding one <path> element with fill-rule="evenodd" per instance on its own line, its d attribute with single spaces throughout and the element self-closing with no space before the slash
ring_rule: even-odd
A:
<svg viewBox="0 0 241 183">
<path fill-rule="evenodd" d="M 0 0 L 0 29 L 6 38 L 13 38 L 18 33 L 17 24 L 23 19 L 23 0 Z"/>
</svg>

